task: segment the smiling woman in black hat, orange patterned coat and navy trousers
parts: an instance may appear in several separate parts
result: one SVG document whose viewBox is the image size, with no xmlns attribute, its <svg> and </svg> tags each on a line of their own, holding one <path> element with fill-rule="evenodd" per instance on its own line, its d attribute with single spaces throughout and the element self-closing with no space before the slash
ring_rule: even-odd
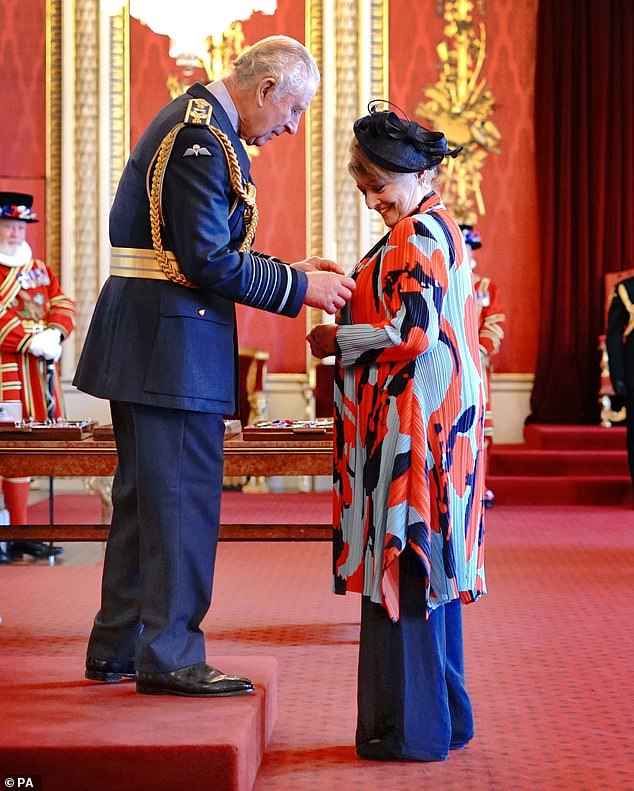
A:
<svg viewBox="0 0 634 791">
<path fill-rule="evenodd" d="M 335 591 L 361 593 L 357 753 L 442 761 L 474 734 L 462 602 L 485 592 L 484 389 L 464 240 L 433 189 L 448 151 L 393 112 L 355 121 L 349 170 L 388 233 L 357 264 L 334 354 Z"/>
</svg>

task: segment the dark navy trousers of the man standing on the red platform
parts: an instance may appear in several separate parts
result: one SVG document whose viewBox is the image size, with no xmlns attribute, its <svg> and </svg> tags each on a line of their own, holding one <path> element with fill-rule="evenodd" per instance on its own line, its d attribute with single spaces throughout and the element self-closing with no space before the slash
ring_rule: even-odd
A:
<svg viewBox="0 0 634 791">
<path fill-rule="evenodd" d="M 205 659 L 224 421 L 112 401 L 118 453 L 101 608 L 88 656 L 170 672 Z"/>
</svg>

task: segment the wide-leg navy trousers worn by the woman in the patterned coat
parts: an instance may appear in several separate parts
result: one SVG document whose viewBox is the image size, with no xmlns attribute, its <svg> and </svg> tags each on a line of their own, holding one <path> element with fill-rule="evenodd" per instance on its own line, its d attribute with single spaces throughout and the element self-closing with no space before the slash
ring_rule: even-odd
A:
<svg viewBox="0 0 634 791">
<path fill-rule="evenodd" d="M 425 618 L 420 561 L 399 557 L 400 617 L 363 597 L 357 690 L 357 753 L 394 761 L 442 761 L 473 738 L 465 689 L 462 605 Z"/>
</svg>

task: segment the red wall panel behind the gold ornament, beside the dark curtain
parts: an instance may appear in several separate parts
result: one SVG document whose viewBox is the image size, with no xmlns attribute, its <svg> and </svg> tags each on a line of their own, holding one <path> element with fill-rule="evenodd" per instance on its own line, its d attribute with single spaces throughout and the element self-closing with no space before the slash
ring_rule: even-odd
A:
<svg viewBox="0 0 634 791">
<path fill-rule="evenodd" d="M 539 316 L 539 247 L 533 78 L 538 0 L 486 0 L 483 76 L 495 99 L 493 122 L 501 153 L 483 171 L 486 214 L 478 271 L 499 286 L 507 312 L 499 372 L 534 370 Z M 411 117 L 438 79 L 436 45 L 443 39 L 437 0 L 390 0 L 390 95 Z M 474 15 L 478 4 L 474 3 Z M 479 17 L 477 17 L 479 18 Z M 403 42 L 407 42 L 404 45 Z M 414 45 L 412 47 L 412 42 Z M 419 119 L 420 120 L 420 119 Z"/>
</svg>

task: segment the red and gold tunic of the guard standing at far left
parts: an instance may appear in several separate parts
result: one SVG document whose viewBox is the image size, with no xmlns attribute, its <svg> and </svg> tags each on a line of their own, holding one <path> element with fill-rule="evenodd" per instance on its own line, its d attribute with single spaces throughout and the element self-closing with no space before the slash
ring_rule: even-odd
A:
<svg viewBox="0 0 634 791">
<path fill-rule="evenodd" d="M 0 400 L 21 401 L 25 419 L 46 420 L 51 403 L 47 363 L 26 351 L 34 332 L 49 327 L 66 338 L 73 329 L 75 305 L 43 261 L 23 266 L 0 264 Z M 53 417 L 63 417 L 59 366 L 53 369 Z"/>
</svg>

